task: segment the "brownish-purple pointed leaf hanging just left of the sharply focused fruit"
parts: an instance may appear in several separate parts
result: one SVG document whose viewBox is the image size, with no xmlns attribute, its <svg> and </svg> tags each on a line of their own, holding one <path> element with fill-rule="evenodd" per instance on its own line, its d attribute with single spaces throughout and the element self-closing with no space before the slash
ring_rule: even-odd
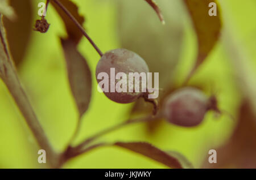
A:
<svg viewBox="0 0 256 180">
<path fill-rule="evenodd" d="M 84 57 L 77 51 L 75 42 L 61 38 L 61 44 L 67 63 L 69 85 L 81 117 L 90 103 L 92 75 Z"/>
</svg>

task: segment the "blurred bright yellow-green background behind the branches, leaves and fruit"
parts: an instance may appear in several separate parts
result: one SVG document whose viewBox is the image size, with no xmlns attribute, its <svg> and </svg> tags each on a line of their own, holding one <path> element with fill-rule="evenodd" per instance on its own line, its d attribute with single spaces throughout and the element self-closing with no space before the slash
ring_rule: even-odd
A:
<svg viewBox="0 0 256 180">
<path fill-rule="evenodd" d="M 37 14 L 39 2 L 42 1 L 32 1 L 33 23 L 39 19 Z M 166 18 L 165 26 L 159 22 L 155 12 L 144 1 L 73 0 L 73 2 L 79 6 L 80 14 L 85 16 L 84 27 L 102 52 L 125 46 L 127 40 L 132 39 L 129 43 L 134 43 L 133 50 L 140 54 L 139 49 L 136 50 L 136 44 L 143 45 L 143 42 L 133 38 L 133 33 L 146 33 L 144 31 L 146 29 L 154 32 L 148 35 L 148 38 L 157 38 L 159 35 L 161 36 L 159 41 L 166 44 L 164 50 L 159 53 L 168 56 L 168 52 L 180 43 L 181 50 L 172 52 L 177 53 L 178 58 L 166 58 L 166 61 L 171 62 L 170 70 L 167 71 L 171 72 L 170 82 L 179 84 L 184 80 L 195 61 L 197 48 L 195 32 L 181 1 L 157 1 Z M 242 53 L 246 53 L 247 58 L 242 63 L 252 68 L 251 77 L 255 77 L 256 1 L 218 2 L 224 24 L 222 38 L 209 54 L 207 61 L 193 76 L 191 83 L 205 87 L 208 95 L 213 86 L 217 92 L 220 108 L 237 117 L 241 100 L 245 95 L 242 85 L 237 80 L 240 70 L 237 69 L 236 61 L 231 58 L 232 52 L 227 46 L 229 42 L 234 41 L 232 44 Z M 133 16 L 137 18 L 129 19 Z M 46 18 L 51 24 L 48 32 L 45 34 L 31 32 L 29 45 L 18 71 L 47 136 L 57 151 L 63 151 L 75 130 L 78 113 L 69 88 L 59 40 L 59 37 L 66 36 L 64 24 L 51 5 L 48 7 Z M 148 27 L 145 29 L 141 22 L 147 23 Z M 168 42 L 171 40 L 168 36 L 174 36 L 175 32 L 169 31 L 168 23 L 172 23 L 174 31 L 182 31 L 181 38 L 176 38 L 177 42 L 171 43 L 170 46 Z M 154 45 L 148 42 L 145 42 L 144 46 L 148 52 L 154 48 Z M 76 143 L 105 127 L 125 121 L 133 107 L 133 104 L 112 102 L 97 91 L 94 74 L 100 57 L 85 38 L 82 38 L 79 44 L 79 51 L 87 59 L 92 70 L 93 93 L 90 107 L 82 117 L 81 131 Z M 156 62 L 158 60 L 156 59 Z M 209 149 L 225 143 L 232 134 L 234 126 L 236 122 L 227 115 L 215 118 L 213 113 L 208 113 L 204 122 L 198 127 L 177 127 L 163 121 L 154 131 L 149 131 L 148 126 L 144 124 L 131 125 L 104 136 L 102 140 L 147 141 L 160 149 L 183 153 L 196 168 L 199 168 L 208 157 Z M 0 137 L 0 168 L 46 168 L 45 165 L 38 163 L 37 153 L 40 148 L 2 81 L 0 81 Z M 126 149 L 103 147 L 74 158 L 67 162 L 64 168 L 166 168 L 166 166 Z"/>
</svg>

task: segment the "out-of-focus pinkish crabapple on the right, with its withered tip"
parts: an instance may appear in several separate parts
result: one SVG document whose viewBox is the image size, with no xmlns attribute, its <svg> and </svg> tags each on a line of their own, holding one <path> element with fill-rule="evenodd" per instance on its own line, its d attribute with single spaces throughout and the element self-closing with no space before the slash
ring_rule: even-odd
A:
<svg viewBox="0 0 256 180">
<path fill-rule="evenodd" d="M 197 126 L 209 109 L 217 111 L 216 103 L 216 98 L 208 98 L 200 89 L 181 88 L 166 98 L 164 117 L 175 125 Z"/>
</svg>

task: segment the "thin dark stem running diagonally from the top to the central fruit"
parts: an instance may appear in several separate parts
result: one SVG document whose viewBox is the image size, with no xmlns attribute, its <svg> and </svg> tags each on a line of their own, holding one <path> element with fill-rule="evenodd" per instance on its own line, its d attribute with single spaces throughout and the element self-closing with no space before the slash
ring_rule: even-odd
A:
<svg viewBox="0 0 256 180">
<path fill-rule="evenodd" d="M 69 18 L 76 24 L 76 26 L 80 29 L 80 31 L 82 32 L 82 34 L 88 39 L 88 41 L 90 42 L 90 44 L 92 44 L 93 48 L 98 52 L 98 54 L 100 54 L 100 56 L 102 57 L 103 53 L 101 52 L 101 50 L 98 48 L 98 46 L 93 42 L 93 40 L 88 36 L 88 34 L 85 32 L 84 28 L 81 26 L 81 24 L 76 20 L 76 18 L 71 14 L 71 12 L 69 12 L 67 10 L 67 8 L 65 8 L 65 6 L 63 6 L 63 4 L 61 4 L 58 0 L 52 0 L 53 2 L 56 3 L 56 5 L 58 5 L 64 12 L 65 14 L 67 14 L 69 16 Z"/>
</svg>

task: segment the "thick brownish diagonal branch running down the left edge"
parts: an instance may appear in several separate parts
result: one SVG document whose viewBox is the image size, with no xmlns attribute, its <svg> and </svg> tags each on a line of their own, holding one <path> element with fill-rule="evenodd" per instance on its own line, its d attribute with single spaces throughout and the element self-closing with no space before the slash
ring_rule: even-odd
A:
<svg viewBox="0 0 256 180">
<path fill-rule="evenodd" d="M 0 78 L 6 84 L 11 96 L 13 96 L 16 105 L 20 112 L 23 114 L 27 125 L 30 127 L 32 133 L 35 136 L 36 141 L 40 147 L 46 150 L 47 160 L 51 163 L 51 166 L 55 165 L 55 152 L 53 151 L 51 144 L 49 143 L 43 128 L 40 126 L 38 118 L 35 115 L 34 110 L 28 100 L 22 85 L 20 84 L 18 74 L 16 72 L 13 59 L 11 57 L 9 47 L 6 40 L 5 29 L 2 23 L 2 15 L 0 14 Z"/>
</svg>

